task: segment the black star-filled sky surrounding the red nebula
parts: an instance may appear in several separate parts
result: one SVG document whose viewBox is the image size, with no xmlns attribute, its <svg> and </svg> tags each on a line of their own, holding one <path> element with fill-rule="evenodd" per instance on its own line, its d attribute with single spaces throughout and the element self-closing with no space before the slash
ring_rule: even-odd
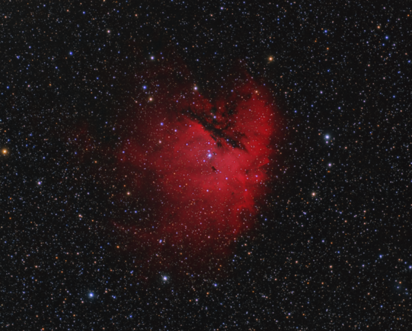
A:
<svg viewBox="0 0 412 331">
<path fill-rule="evenodd" d="M 0 14 L 1 328 L 409 330 L 411 3 L 10 1 Z M 268 211 L 220 271 L 139 277 L 133 236 L 110 222 L 135 208 L 109 198 L 118 118 L 159 54 L 209 97 L 242 66 L 277 104 Z"/>
</svg>

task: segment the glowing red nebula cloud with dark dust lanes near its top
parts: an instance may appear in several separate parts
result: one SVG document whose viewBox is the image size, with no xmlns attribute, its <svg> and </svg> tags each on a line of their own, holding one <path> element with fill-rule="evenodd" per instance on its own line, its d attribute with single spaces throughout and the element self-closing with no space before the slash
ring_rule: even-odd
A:
<svg viewBox="0 0 412 331">
<path fill-rule="evenodd" d="M 163 266 L 227 255 L 264 207 L 274 157 L 276 112 L 264 86 L 242 73 L 208 100 L 190 73 L 179 75 L 159 64 L 146 73 L 118 155 L 142 207 L 135 225 L 117 226 L 133 230 L 146 258 L 167 251 Z"/>
</svg>

